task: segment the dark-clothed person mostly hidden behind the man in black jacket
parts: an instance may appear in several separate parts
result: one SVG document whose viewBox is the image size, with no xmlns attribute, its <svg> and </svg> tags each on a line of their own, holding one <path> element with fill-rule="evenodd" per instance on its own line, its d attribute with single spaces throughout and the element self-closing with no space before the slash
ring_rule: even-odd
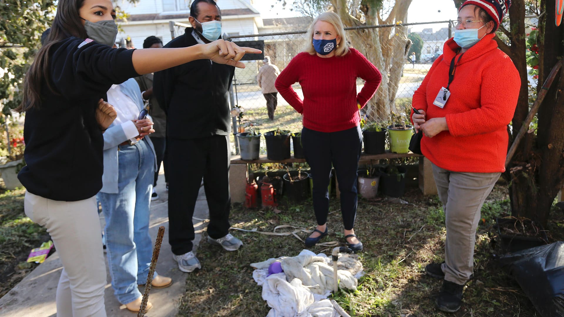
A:
<svg viewBox="0 0 564 317">
<path fill-rule="evenodd" d="M 143 42 L 143 49 L 160 49 L 162 48 L 162 41 L 156 36 L 149 36 Z M 158 194 L 155 191 L 157 186 L 158 171 L 161 169 L 161 162 L 163 163 L 163 168 L 165 170 L 165 182 L 166 179 L 166 113 L 162 110 L 161 106 L 158 105 L 157 98 L 153 95 L 153 73 L 144 74 L 143 76 L 136 77 L 135 80 L 139 84 L 139 89 L 142 91 L 142 97 L 144 102 L 149 106 L 149 115 L 155 123 L 153 129 L 155 132 L 151 134 L 151 141 L 153 142 L 153 147 L 155 148 L 155 154 L 157 155 L 157 169 L 155 170 L 155 181 L 153 182 L 153 192 L 151 194 L 151 200 L 157 200 Z"/>
</svg>

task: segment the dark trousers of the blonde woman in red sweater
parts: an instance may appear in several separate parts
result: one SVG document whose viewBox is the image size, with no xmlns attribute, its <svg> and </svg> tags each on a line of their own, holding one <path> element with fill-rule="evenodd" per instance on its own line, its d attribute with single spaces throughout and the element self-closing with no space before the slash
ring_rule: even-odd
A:
<svg viewBox="0 0 564 317">
<path fill-rule="evenodd" d="M 356 217 L 356 170 L 362 151 L 362 134 L 356 126 L 337 132 L 319 132 L 302 129 L 303 155 L 310 165 L 314 179 L 313 201 L 317 223 L 327 222 L 329 212 L 329 177 L 331 165 L 335 168 L 341 191 L 341 213 L 346 230 L 354 228 Z"/>
</svg>

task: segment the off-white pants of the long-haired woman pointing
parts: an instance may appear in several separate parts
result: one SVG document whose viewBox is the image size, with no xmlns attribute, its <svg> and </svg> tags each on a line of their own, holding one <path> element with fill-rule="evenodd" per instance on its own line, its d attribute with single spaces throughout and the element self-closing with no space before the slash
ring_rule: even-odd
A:
<svg viewBox="0 0 564 317">
<path fill-rule="evenodd" d="M 47 228 L 63 263 L 58 317 L 105 317 L 106 271 L 96 197 L 57 201 L 25 193 L 25 214 Z"/>
</svg>

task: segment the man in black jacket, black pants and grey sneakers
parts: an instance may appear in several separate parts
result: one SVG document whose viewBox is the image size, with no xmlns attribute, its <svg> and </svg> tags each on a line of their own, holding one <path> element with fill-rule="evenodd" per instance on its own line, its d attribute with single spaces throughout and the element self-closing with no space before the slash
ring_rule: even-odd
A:
<svg viewBox="0 0 564 317">
<path fill-rule="evenodd" d="M 186 33 L 165 47 L 188 47 L 221 37 L 221 12 L 213 0 L 195 0 Z M 201 268 L 192 253 L 192 215 L 202 177 L 208 200 L 208 242 L 235 251 L 243 244 L 228 233 L 230 109 L 235 68 L 211 60 L 191 61 L 155 73 L 153 94 L 167 115 L 169 243 L 180 271 Z"/>
</svg>

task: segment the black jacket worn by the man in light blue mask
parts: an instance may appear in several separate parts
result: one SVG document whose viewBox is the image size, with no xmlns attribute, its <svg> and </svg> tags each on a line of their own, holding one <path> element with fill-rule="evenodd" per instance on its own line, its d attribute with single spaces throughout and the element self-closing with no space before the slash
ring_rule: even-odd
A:
<svg viewBox="0 0 564 317">
<path fill-rule="evenodd" d="M 198 42 L 193 28 L 165 47 L 188 47 Z M 196 139 L 210 135 L 228 135 L 231 115 L 228 90 L 235 67 L 195 60 L 156 72 L 153 94 L 166 112 L 168 137 Z"/>
</svg>

